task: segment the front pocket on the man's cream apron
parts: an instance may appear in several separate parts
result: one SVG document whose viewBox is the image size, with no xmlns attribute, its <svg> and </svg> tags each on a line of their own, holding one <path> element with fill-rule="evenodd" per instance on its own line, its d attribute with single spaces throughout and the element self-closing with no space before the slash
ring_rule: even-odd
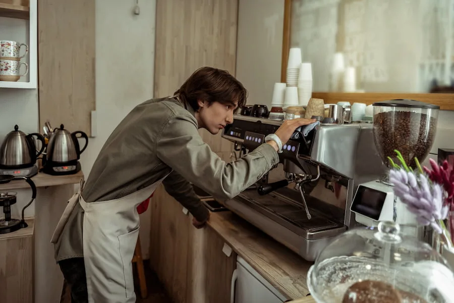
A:
<svg viewBox="0 0 454 303">
<path fill-rule="evenodd" d="M 139 236 L 139 227 L 118 236 L 120 242 L 120 256 L 123 263 L 123 275 L 125 277 L 126 297 L 132 297 L 134 294 L 134 277 L 132 271 L 132 258 L 136 249 L 137 238 Z"/>
</svg>

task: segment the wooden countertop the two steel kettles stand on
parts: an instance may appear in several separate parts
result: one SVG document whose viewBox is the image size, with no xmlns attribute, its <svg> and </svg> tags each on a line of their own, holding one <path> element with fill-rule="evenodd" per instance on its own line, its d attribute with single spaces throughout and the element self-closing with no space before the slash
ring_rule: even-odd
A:
<svg viewBox="0 0 454 303">
<path fill-rule="evenodd" d="M 45 173 L 38 173 L 31 177 L 36 187 L 59 186 L 67 184 L 77 184 L 84 178 L 84 173 L 79 171 L 74 175 L 52 176 Z M 30 188 L 24 180 L 14 180 L 9 183 L 0 184 L 0 190 Z"/>
</svg>

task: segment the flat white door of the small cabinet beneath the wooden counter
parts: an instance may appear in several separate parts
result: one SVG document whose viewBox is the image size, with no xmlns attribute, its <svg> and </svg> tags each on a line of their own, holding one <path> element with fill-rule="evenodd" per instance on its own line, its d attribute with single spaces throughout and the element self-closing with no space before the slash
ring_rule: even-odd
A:
<svg viewBox="0 0 454 303">
<path fill-rule="evenodd" d="M 283 302 L 240 263 L 237 263 L 236 276 L 235 303 Z"/>
</svg>

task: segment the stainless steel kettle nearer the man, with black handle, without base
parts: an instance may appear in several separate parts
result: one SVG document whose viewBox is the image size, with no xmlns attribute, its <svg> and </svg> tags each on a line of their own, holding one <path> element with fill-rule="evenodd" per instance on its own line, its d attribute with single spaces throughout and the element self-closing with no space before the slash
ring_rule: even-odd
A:
<svg viewBox="0 0 454 303">
<path fill-rule="evenodd" d="M 78 137 L 77 135 L 80 135 Z M 85 139 L 85 145 L 80 149 L 79 138 Z M 46 162 L 68 163 L 80 159 L 88 145 L 88 136 L 83 131 L 70 133 L 61 124 L 60 128 L 55 128 L 47 143 Z"/>
</svg>

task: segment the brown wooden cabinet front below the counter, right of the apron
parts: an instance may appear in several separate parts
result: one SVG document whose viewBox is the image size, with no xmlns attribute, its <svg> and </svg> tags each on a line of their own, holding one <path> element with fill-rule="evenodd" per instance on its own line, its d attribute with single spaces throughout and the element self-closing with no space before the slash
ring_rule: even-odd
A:
<svg viewBox="0 0 454 303">
<path fill-rule="evenodd" d="M 230 303 L 235 252 L 222 252 L 224 241 L 211 227 L 192 226 L 191 216 L 162 185 L 150 208 L 150 264 L 172 301 Z"/>
</svg>

